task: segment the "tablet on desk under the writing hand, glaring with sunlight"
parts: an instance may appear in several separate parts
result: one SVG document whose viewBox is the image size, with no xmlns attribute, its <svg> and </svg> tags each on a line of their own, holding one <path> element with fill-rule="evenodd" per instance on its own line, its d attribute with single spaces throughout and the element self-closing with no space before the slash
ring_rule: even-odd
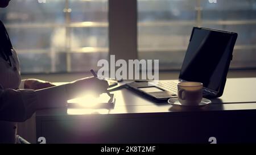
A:
<svg viewBox="0 0 256 155">
<path fill-rule="evenodd" d="M 100 97 L 93 97 L 92 95 L 85 95 L 81 98 L 68 100 L 68 108 L 84 108 L 84 109 L 113 109 L 115 105 L 114 94 L 104 93 Z"/>
</svg>

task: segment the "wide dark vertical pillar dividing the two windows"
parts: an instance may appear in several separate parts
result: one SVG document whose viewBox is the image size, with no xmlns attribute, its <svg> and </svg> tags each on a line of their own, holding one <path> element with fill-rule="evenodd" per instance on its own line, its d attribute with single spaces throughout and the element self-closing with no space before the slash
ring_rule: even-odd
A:
<svg viewBox="0 0 256 155">
<path fill-rule="evenodd" d="M 138 58 L 137 0 L 109 0 L 109 56 Z"/>
</svg>

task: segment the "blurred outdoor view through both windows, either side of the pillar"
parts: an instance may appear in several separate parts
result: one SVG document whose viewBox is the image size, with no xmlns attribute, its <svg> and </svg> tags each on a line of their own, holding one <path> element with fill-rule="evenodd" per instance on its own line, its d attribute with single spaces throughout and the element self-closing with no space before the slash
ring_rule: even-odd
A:
<svg viewBox="0 0 256 155">
<path fill-rule="evenodd" d="M 13 0 L 0 19 L 22 74 L 85 72 L 108 59 L 108 0 Z M 237 32 L 230 68 L 256 68 L 256 0 L 138 0 L 138 58 L 179 70 L 193 26 Z"/>
</svg>

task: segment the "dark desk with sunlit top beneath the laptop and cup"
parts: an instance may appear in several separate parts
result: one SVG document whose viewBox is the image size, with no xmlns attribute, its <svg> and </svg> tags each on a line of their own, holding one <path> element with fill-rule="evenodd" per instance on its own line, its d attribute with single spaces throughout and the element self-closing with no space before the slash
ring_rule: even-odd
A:
<svg viewBox="0 0 256 155">
<path fill-rule="evenodd" d="M 228 79 L 220 99 L 203 108 L 154 103 L 133 91 L 114 91 L 113 110 L 36 112 L 36 136 L 47 143 L 256 142 L 256 78 Z"/>
</svg>

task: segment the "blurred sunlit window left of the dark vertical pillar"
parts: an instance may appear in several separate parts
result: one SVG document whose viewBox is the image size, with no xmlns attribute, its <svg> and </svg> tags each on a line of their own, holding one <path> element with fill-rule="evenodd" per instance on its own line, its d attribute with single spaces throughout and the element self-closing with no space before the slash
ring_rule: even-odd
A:
<svg viewBox="0 0 256 155">
<path fill-rule="evenodd" d="M 82 72 L 108 57 L 107 0 L 16 0 L 0 11 L 22 73 Z"/>
</svg>

